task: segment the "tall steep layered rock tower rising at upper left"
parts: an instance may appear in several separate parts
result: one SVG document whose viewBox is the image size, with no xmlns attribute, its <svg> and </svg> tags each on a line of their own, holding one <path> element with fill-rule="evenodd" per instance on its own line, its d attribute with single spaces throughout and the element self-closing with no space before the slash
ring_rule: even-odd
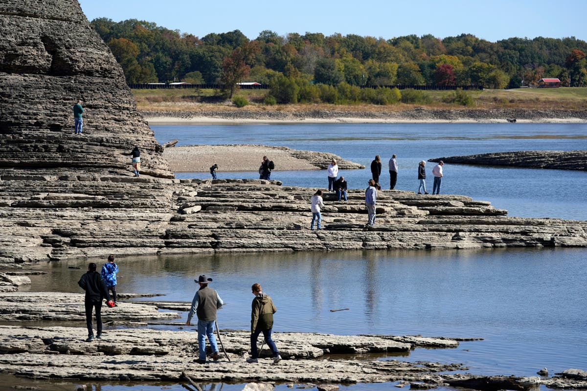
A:
<svg viewBox="0 0 587 391">
<path fill-rule="evenodd" d="M 76 0 L 0 1 L 0 168 L 127 175 L 141 149 L 146 174 L 173 178 L 110 49 Z M 83 134 L 73 105 L 83 100 Z"/>
</svg>

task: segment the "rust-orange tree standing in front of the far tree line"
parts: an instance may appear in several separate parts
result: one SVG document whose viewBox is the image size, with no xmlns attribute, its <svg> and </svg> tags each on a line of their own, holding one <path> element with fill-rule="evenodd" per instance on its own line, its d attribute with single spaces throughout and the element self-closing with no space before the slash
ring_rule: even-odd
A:
<svg viewBox="0 0 587 391">
<path fill-rule="evenodd" d="M 220 81 L 224 83 L 224 94 L 232 98 L 234 91 L 237 90 L 237 83 L 247 77 L 251 71 L 251 63 L 255 55 L 259 52 L 257 41 L 245 42 L 242 46 L 232 50 L 230 56 L 222 60 L 222 74 Z"/>
</svg>

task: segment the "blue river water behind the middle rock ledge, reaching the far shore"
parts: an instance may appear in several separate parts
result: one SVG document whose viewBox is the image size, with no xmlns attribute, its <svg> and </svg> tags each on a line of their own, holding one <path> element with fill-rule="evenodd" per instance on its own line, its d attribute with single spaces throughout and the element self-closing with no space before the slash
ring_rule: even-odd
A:
<svg viewBox="0 0 587 391">
<path fill-rule="evenodd" d="M 152 126 L 159 142 L 190 144 L 266 144 L 332 152 L 359 162 L 365 170 L 340 171 L 350 188 L 362 189 L 376 154 L 383 160 L 380 182 L 389 187 L 387 161 L 397 155 L 397 189 L 416 191 L 421 160 L 454 155 L 522 150 L 587 150 L 587 124 L 295 124 Z M 271 157 L 270 157 L 271 158 Z M 261 162 L 261 157 L 259 157 Z M 214 162 L 210 162 L 212 165 Z M 218 178 L 258 178 L 257 172 L 222 172 Z M 327 186 L 326 172 L 276 171 L 286 185 Z M 432 188 L 427 164 L 427 188 Z M 488 200 L 510 216 L 587 220 L 587 172 L 447 164 L 442 192 Z M 178 178 L 207 178 L 180 173 Z"/>
</svg>

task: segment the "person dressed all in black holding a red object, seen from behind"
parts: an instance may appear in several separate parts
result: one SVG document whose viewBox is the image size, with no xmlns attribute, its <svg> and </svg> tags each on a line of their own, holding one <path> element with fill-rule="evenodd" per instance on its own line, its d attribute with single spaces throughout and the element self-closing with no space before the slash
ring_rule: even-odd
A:
<svg viewBox="0 0 587 391">
<path fill-rule="evenodd" d="M 96 264 L 90 263 L 87 266 L 87 273 L 82 275 L 82 278 L 77 281 L 83 290 L 86 291 L 86 297 L 84 304 L 86 306 L 86 325 L 87 325 L 87 342 L 94 339 L 94 332 L 92 331 L 92 308 L 96 309 L 96 328 L 98 334 L 96 338 L 102 338 L 102 300 L 104 297 L 106 301 L 110 301 L 110 294 L 106 288 L 106 284 L 100 276 L 100 273 L 96 271 Z"/>
</svg>

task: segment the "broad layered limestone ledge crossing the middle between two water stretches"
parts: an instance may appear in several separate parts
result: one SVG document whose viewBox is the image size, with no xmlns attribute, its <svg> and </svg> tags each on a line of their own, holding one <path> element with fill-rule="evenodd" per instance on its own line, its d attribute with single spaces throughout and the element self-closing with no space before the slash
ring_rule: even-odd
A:
<svg viewBox="0 0 587 391">
<path fill-rule="evenodd" d="M 164 179 L 0 169 L 0 267 L 83 257 L 239 251 L 587 246 L 587 222 L 508 217 L 459 195 L 383 190 L 366 229 L 365 195 L 259 179 Z M 195 207 L 195 208 L 194 208 Z M 191 212 L 191 213 L 188 213 Z"/>
</svg>

